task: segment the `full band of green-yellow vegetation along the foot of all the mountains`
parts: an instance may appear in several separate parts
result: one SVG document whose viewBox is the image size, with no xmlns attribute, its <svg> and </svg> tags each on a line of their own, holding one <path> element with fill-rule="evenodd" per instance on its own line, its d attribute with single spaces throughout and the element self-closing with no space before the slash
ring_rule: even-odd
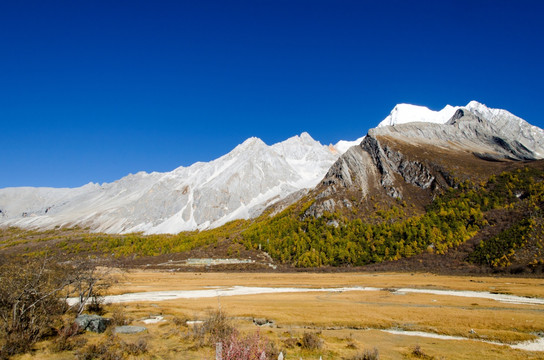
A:
<svg viewBox="0 0 544 360">
<path fill-rule="evenodd" d="M 270 210 L 254 220 L 177 235 L 2 229 L 0 254 L 153 263 L 161 256 L 255 258 L 265 252 L 286 268 L 354 267 L 440 256 L 470 239 L 475 246 L 465 262 L 535 271 L 544 264 L 543 167 L 541 161 L 528 162 L 484 182 L 461 182 L 436 196 L 424 213 L 397 199 L 393 206 L 376 202 L 370 214 L 354 208 L 349 216 L 325 212 L 316 218 L 305 216 L 313 202 L 305 198 L 274 216 Z"/>
</svg>

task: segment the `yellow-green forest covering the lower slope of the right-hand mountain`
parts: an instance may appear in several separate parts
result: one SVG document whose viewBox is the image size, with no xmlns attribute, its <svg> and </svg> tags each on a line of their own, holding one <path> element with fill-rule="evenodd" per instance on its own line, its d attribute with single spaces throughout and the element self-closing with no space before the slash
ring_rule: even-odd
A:
<svg viewBox="0 0 544 360">
<path fill-rule="evenodd" d="M 261 247 L 274 259 L 299 267 L 360 266 L 398 260 L 422 252 L 444 254 L 489 224 L 490 211 L 506 211 L 511 226 L 483 239 L 468 261 L 491 267 L 542 264 L 544 172 L 534 167 L 503 172 L 485 183 L 465 181 L 436 197 L 426 213 L 406 218 L 406 203 L 378 209 L 374 223 L 340 214 L 301 220 L 296 205 L 256 222 L 242 233 L 246 246 Z"/>
</svg>

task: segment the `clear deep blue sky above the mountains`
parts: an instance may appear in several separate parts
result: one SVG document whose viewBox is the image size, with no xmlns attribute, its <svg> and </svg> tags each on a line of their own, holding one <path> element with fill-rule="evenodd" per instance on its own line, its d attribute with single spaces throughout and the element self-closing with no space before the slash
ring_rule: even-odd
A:
<svg viewBox="0 0 544 360">
<path fill-rule="evenodd" d="M 543 127 L 544 1 L 1 1 L 0 188 L 353 140 L 397 103 Z"/>
</svg>

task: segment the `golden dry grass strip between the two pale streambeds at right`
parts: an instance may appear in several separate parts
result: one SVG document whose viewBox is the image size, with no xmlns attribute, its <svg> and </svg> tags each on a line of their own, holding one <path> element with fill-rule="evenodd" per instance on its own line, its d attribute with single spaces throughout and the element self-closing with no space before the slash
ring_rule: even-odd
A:
<svg viewBox="0 0 544 360">
<path fill-rule="evenodd" d="M 492 301 L 488 301 L 489 306 L 474 306 L 472 299 L 463 298 L 434 303 L 428 295 L 399 296 L 385 291 L 251 295 L 224 297 L 220 301 L 232 316 L 266 317 L 280 326 L 399 327 L 456 336 L 469 336 L 474 329 L 478 337 L 506 342 L 532 339 L 531 332 L 544 328 L 544 316 L 538 316 L 539 312 L 531 306 Z M 202 318 L 204 309 L 217 307 L 217 299 L 165 301 L 158 305 L 165 313 L 186 311 Z M 139 307 L 152 311 L 143 304 Z"/>
</svg>

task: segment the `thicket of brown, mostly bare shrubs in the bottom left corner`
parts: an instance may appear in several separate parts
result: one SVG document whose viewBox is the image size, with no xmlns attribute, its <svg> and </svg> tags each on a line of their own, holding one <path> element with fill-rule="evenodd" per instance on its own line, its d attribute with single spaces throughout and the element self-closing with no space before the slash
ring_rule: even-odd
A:
<svg viewBox="0 0 544 360">
<path fill-rule="evenodd" d="M 51 259 L 1 260 L 0 359 L 24 353 L 51 335 L 61 336 L 59 349 L 71 346 L 69 332 L 74 330 L 64 326 L 55 333 L 52 326 L 62 323 L 61 317 L 69 310 L 64 299 L 73 294 L 71 291 L 81 291 L 87 300 L 94 296 L 94 288 L 103 287 L 98 285 L 101 278 L 95 265 L 87 263 L 82 271 L 85 262 L 74 267 Z M 93 274 L 92 282 L 83 279 L 85 273 Z"/>
</svg>

